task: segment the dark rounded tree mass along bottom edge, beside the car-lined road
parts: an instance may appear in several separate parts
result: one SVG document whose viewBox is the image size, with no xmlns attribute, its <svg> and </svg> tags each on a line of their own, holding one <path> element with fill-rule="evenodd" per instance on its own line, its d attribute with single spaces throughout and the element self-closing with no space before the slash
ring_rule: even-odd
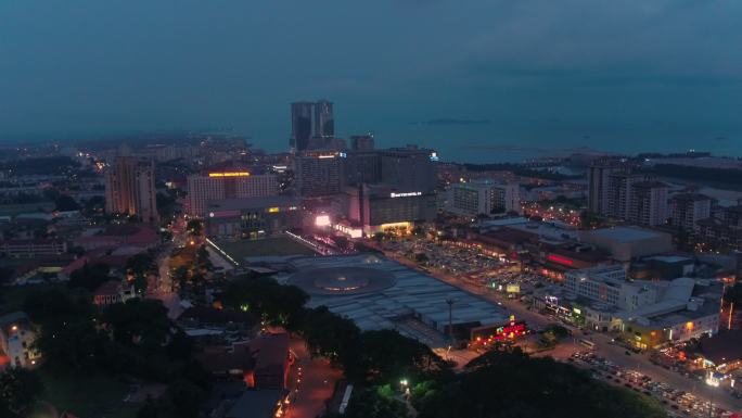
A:
<svg viewBox="0 0 742 418">
<path fill-rule="evenodd" d="M 490 351 L 448 381 L 412 390 L 419 418 L 645 417 L 667 414 L 651 397 L 609 387 L 551 357 Z"/>
</svg>

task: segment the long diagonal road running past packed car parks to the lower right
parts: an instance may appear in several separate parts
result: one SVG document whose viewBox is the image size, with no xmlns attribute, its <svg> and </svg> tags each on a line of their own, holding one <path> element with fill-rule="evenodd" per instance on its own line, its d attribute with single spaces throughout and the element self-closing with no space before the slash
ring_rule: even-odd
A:
<svg viewBox="0 0 742 418">
<path fill-rule="evenodd" d="M 415 263 L 405 257 L 397 256 L 393 253 L 386 253 L 386 255 L 401 264 L 405 264 L 408 267 L 419 269 L 419 266 Z M 483 299 L 486 299 L 500 305 L 509 314 L 515 315 L 515 318 L 525 320 L 530 328 L 543 328 L 546 325 L 554 322 L 554 319 L 548 316 L 541 315 L 534 311 L 529 311 L 517 300 L 502 297 L 491 291 L 488 291 L 486 288 L 482 286 L 472 284 L 470 282 L 463 281 L 450 275 L 445 275 L 440 271 L 430 271 L 427 274 L 435 277 L 438 280 L 445 281 L 461 290 L 478 295 Z M 674 389 L 693 393 L 701 401 L 712 401 L 713 398 L 713 403 L 721 408 L 734 411 L 742 410 L 742 400 L 738 400 L 722 390 L 713 389 L 706 385 L 705 382 L 699 380 L 691 380 L 682 375 L 656 366 L 649 360 L 649 356 L 647 354 L 632 353 L 631 355 L 626 355 L 626 349 L 612 344 L 612 337 L 609 334 L 590 333 L 588 337 L 586 337 L 583 334 L 580 330 L 576 328 L 572 328 L 572 331 L 575 335 L 575 340 L 581 338 L 590 339 L 592 342 L 596 343 L 596 354 L 598 356 L 609 359 L 618 366 L 637 370 L 643 375 L 649 376 L 650 378 L 652 378 L 652 380 L 665 382 Z M 580 349 L 577 349 L 576 344 L 574 344 L 573 342 L 567 344 L 560 344 L 560 346 L 555 351 L 548 352 L 545 354 L 551 355 L 558 359 L 566 359 L 566 357 L 568 357 L 573 352 L 577 350 Z M 463 354 L 458 354 L 458 356 L 462 359 L 468 358 L 468 356 Z"/>
</svg>

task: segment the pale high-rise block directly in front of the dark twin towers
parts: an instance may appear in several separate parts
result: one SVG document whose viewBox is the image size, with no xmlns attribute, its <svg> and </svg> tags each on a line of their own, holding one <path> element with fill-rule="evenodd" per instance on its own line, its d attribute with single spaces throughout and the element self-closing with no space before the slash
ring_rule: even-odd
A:
<svg viewBox="0 0 742 418">
<path fill-rule="evenodd" d="M 294 157 L 296 190 L 305 198 L 341 192 L 342 161 L 337 151 L 304 151 Z"/>
</svg>

